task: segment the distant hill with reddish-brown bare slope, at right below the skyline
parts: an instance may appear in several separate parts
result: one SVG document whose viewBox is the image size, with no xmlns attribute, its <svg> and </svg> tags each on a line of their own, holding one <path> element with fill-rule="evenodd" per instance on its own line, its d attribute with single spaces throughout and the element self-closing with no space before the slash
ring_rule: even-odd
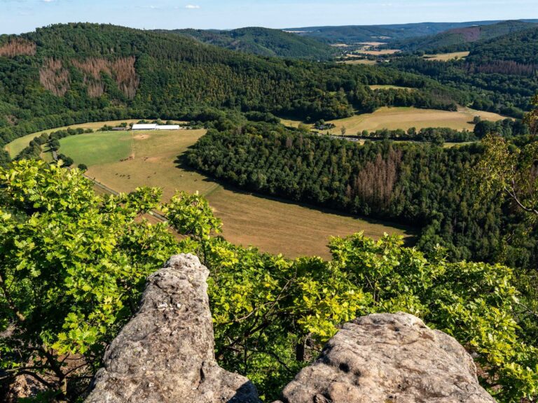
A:
<svg viewBox="0 0 538 403">
<path fill-rule="evenodd" d="M 503 21 L 497 24 L 474 25 L 472 27 L 460 27 L 448 29 L 436 35 L 409 38 L 403 41 L 392 43 L 393 47 L 401 50 L 415 51 L 423 50 L 427 53 L 435 52 L 456 52 L 469 50 L 473 43 L 488 41 L 512 32 L 524 31 L 532 27 L 537 27 L 534 22 L 525 21 Z"/>
</svg>

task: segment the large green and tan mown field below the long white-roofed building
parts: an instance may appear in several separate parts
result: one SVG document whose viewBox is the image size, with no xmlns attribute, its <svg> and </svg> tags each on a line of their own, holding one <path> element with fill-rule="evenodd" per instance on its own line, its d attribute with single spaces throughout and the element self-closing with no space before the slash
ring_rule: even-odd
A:
<svg viewBox="0 0 538 403">
<path fill-rule="evenodd" d="M 204 130 L 81 134 L 62 139 L 60 153 L 72 157 L 75 164 L 88 165 L 88 176 L 120 192 L 143 185 L 163 188 L 165 199 L 175 190 L 199 192 L 223 220 L 226 239 L 270 253 L 328 257 L 329 236 L 359 231 L 373 238 L 385 232 L 412 235 L 408 228 L 224 188 L 198 172 L 178 167 L 177 156 L 203 134 Z M 130 155 L 134 158 L 129 159 Z"/>
</svg>

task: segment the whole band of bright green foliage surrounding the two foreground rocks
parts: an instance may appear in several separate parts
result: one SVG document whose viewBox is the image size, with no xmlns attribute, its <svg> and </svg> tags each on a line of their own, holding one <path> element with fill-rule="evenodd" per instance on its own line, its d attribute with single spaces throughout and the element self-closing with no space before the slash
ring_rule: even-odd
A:
<svg viewBox="0 0 538 403">
<path fill-rule="evenodd" d="M 22 160 L 0 171 L 1 367 L 32 374 L 74 402 L 102 353 L 135 312 L 144 280 L 174 253 L 200 251 L 210 270 L 216 357 L 249 376 L 265 400 L 356 316 L 407 311 L 453 334 L 488 372 L 499 402 L 537 395 L 536 339 L 520 327 L 511 270 L 427 258 L 397 237 L 331 240 L 333 260 L 287 260 L 233 246 L 207 201 L 160 190 L 99 197 L 78 169 Z M 158 208 L 179 229 L 150 225 Z M 82 367 L 69 372 L 64 358 Z M 495 388 L 493 388 L 495 386 Z M 500 388 L 499 388 L 500 386 Z"/>
</svg>

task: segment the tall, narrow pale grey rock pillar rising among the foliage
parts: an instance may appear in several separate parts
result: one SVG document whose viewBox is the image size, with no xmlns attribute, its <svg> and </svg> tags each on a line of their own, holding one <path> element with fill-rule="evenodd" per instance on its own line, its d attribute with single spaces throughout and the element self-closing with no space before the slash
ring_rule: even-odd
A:
<svg viewBox="0 0 538 403">
<path fill-rule="evenodd" d="M 216 364 L 208 274 L 198 257 L 176 255 L 149 276 L 86 403 L 260 402 L 248 379 Z"/>
</svg>

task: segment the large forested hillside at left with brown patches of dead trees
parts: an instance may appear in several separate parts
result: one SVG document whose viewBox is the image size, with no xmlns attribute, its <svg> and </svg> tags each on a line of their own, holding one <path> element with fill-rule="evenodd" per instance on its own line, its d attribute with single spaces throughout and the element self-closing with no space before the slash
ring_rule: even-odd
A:
<svg viewBox="0 0 538 403">
<path fill-rule="evenodd" d="M 408 105 L 469 101 L 464 92 L 393 69 L 263 58 L 178 35 L 57 24 L 0 37 L 0 142 L 91 120 L 214 120 L 223 108 L 343 118 L 371 101 L 394 103 L 374 99 L 372 84 L 417 88 L 403 94 Z"/>
</svg>

